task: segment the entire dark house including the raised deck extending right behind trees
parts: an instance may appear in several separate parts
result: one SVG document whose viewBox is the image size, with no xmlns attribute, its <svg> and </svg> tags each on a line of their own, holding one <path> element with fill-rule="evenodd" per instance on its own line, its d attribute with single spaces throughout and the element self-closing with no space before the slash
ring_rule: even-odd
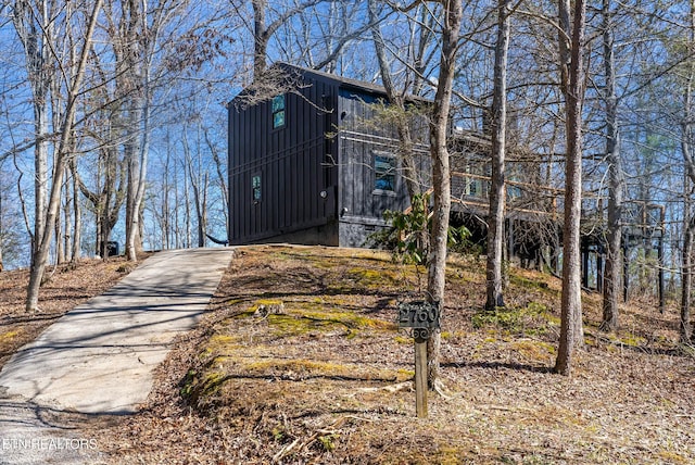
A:
<svg viewBox="0 0 695 465">
<path fill-rule="evenodd" d="M 399 136 L 383 116 L 389 113 L 386 91 L 285 63 L 271 70 L 275 77 L 261 86 L 263 90 L 247 89 L 228 105 L 228 243 L 365 246 L 370 234 L 387 226 L 384 211 L 409 206 Z M 426 191 L 430 187 L 427 121 L 414 116 L 410 125 L 417 139 L 416 171 Z M 490 137 L 484 131 L 452 129 L 448 148 L 452 222 L 466 226 L 484 251 Z M 522 148 L 510 148 L 510 154 L 506 257 L 558 269 L 564 190 L 548 185 L 553 162 Z M 582 218 L 583 284 L 591 287 L 589 273 L 595 268 L 594 286 L 601 290 L 605 209 L 599 196 L 587 200 L 595 205 Z M 652 213 L 659 209 L 661 219 L 647 221 L 658 216 Z M 637 205 L 636 211 L 641 213 L 634 218 L 626 218 L 626 225 L 632 225 L 623 228 L 626 256 L 632 242 L 656 240 L 662 260 L 662 206 Z M 624 286 L 627 297 L 627 279 Z M 660 296 L 662 288 L 660 273 Z"/>
</svg>

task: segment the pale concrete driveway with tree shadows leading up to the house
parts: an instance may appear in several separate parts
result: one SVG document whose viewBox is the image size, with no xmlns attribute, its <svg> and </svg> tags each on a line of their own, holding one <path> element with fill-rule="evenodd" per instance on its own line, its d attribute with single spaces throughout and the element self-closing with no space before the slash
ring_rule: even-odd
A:
<svg viewBox="0 0 695 465">
<path fill-rule="evenodd" d="M 197 325 L 231 257 L 232 249 L 155 253 L 22 348 L 0 372 L 0 463 L 83 463 L 64 454 L 98 449 L 87 438 L 40 453 L 52 444 L 41 439 L 70 439 L 50 418 L 136 412 L 172 340 Z"/>
</svg>

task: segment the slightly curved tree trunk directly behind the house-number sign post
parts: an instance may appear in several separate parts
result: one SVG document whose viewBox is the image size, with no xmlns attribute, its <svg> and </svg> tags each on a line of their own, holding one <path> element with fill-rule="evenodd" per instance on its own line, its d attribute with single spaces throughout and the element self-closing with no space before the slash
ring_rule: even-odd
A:
<svg viewBox="0 0 695 465">
<path fill-rule="evenodd" d="M 442 21 L 442 51 L 439 66 L 437 93 L 432 105 L 430 125 L 430 158 L 432 160 L 432 239 L 428 260 L 427 290 L 429 299 L 444 309 L 444 286 L 446 284 L 446 241 L 448 238 L 448 216 L 452 205 L 451 171 L 446 136 L 452 99 L 452 87 L 456 68 L 456 52 L 462 23 L 460 0 L 444 2 Z M 428 340 L 427 382 L 433 389 L 439 377 L 441 335 L 435 332 Z"/>
</svg>

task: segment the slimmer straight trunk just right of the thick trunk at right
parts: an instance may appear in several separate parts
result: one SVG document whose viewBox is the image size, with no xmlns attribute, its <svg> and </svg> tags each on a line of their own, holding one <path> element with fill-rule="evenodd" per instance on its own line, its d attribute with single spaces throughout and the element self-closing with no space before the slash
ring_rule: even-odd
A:
<svg viewBox="0 0 695 465">
<path fill-rule="evenodd" d="M 608 224 L 606 235 L 606 271 L 603 286 L 604 331 L 618 330 L 618 299 L 622 271 L 622 192 L 624 177 L 620 156 L 620 130 L 618 127 L 618 99 L 616 97 L 616 70 L 610 0 L 604 0 L 604 72 L 606 76 L 606 163 L 608 164 Z"/>
</svg>

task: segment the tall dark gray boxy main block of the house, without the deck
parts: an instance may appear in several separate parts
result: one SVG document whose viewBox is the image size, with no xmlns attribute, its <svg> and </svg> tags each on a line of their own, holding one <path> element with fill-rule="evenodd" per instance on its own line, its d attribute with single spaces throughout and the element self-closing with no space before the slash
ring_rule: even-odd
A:
<svg viewBox="0 0 695 465">
<path fill-rule="evenodd" d="M 228 105 L 229 243 L 363 246 L 386 210 L 409 205 L 397 135 L 372 105 L 383 89 L 283 63 L 273 70 L 263 96 L 245 90 Z M 427 130 L 418 134 L 426 153 Z"/>
</svg>

